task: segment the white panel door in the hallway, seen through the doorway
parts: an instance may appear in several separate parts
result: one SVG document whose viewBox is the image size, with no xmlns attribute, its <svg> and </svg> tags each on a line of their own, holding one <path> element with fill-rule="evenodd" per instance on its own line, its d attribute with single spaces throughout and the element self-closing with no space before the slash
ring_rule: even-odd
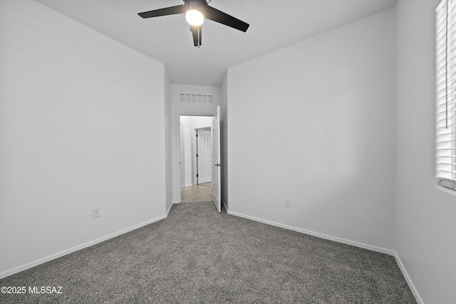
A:
<svg viewBox="0 0 456 304">
<path fill-rule="evenodd" d="M 198 184 L 212 182 L 212 138 L 211 132 L 197 130 Z"/>
</svg>

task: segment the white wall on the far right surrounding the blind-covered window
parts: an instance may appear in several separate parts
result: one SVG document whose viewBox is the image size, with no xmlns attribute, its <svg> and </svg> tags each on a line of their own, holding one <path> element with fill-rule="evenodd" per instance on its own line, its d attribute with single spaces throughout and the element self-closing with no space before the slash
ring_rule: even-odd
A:
<svg viewBox="0 0 456 304">
<path fill-rule="evenodd" d="M 455 303 L 456 193 L 435 179 L 435 8 L 398 1 L 395 251 L 423 303 Z"/>
</svg>

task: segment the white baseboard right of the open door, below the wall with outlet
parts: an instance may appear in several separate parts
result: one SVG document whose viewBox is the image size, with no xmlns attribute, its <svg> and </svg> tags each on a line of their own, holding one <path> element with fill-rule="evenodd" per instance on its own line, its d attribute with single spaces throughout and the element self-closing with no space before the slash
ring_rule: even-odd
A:
<svg viewBox="0 0 456 304">
<path fill-rule="evenodd" d="M 368 249 L 368 250 L 377 251 L 377 252 L 380 252 L 380 253 L 386 253 L 386 254 L 388 254 L 390 256 L 395 256 L 395 251 L 392 251 L 390 249 L 385 249 L 385 248 L 381 248 L 381 247 L 377 247 L 377 246 L 372 246 L 372 245 L 368 245 L 368 244 L 365 244 L 365 243 L 359 243 L 357 241 L 350 241 L 350 240 L 347 240 L 347 239 L 341 239 L 341 238 L 338 238 L 337 236 L 328 236 L 327 234 L 320 234 L 320 233 L 315 232 L 315 231 L 310 231 L 310 230 L 306 230 L 306 229 L 296 228 L 294 226 L 279 224 L 279 223 L 276 223 L 274 221 L 267 221 L 267 220 L 264 220 L 264 219 L 258 219 L 258 218 L 253 217 L 253 216 L 247 216 L 247 215 L 244 215 L 244 214 L 238 214 L 236 212 L 227 211 L 227 213 L 231 214 L 231 215 L 234 215 L 234 216 L 242 217 L 244 219 L 251 219 L 252 221 L 259 221 L 260 223 L 263 223 L 263 224 L 268 224 L 268 225 L 271 225 L 271 226 L 276 226 L 276 227 L 280 227 L 280 228 L 284 228 L 284 229 L 289 229 L 289 230 L 301 232 L 302 234 L 309 234 L 311 236 L 317 236 L 318 238 L 321 238 L 321 239 L 327 239 L 327 240 L 330 240 L 330 241 L 336 241 L 338 243 L 346 243 L 347 245 L 361 247 L 361 248 L 365 248 L 365 249 Z"/>
</svg>

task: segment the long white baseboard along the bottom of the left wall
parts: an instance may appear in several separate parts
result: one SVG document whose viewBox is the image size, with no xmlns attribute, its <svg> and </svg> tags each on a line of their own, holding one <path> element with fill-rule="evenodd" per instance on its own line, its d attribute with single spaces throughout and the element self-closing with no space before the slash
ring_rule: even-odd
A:
<svg viewBox="0 0 456 304">
<path fill-rule="evenodd" d="M 19 273 L 21 271 L 25 271 L 28 268 L 32 268 L 34 266 L 38 266 L 38 265 L 40 265 L 42 263 L 46 263 L 46 262 L 51 261 L 53 259 L 60 258 L 62 256 L 66 256 L 69 253 L 73 253 L 73 252 L 81 250 L 83 248 L 87 248 L 89 246 L 95 245 L 96 243 L 101 243 L 102 241 L 106 241 L 108 239 L 112 239 L 115 236 L 120 236 L 121 234 L 126 234 L 127 232 L 130 232 L 130 231 L 133 231 L 135 229 L 141 228 L 142 226 L 146 226 L 148 224 L 155 223 L 156 221 L 160 221 L 161 219 L 165 219 L 166 217 L 167 217 L 167 214 L 159 216 L 159 217 L 157 217 L 155 219 L 151 219 L 149 221 L 145 221 L 144 223 L 141 223 L 141 224 L 138 224 L 138 225 L 135 225 L 135 226 L 131 226 L 131 227 L 127 228 L 127 229 L 123 229 L 123 230 L 117 231 L 117 232 L 115 232 L 113 234 L 109 234 L 108 236 L 103 236 L 100 239 L 95 239 L 93 241 L 89 241 L 87 243 L 83 243 L 83 244 L 81 244 L 79 246 L 76 246 L 76 247 L 73 247 L 73 248 L 69 248 L 67 250 L 64 250 L 64 251 L 61 251 L 61 252 L 58 252 L 58 253 L 54 253 L 51 256 L 46 256 L 45 258 L 40 258 L 40 259 L 38 259 L 36 261 L 33 261 L 31 263 L 26 263 L 25 265 L 10 269 L 9 271 L 4 271 L 4 272 L 0 273 L 0 278 L 5 278 L 7 276 L 11 276 L 14 273 Z"/>
</svg>

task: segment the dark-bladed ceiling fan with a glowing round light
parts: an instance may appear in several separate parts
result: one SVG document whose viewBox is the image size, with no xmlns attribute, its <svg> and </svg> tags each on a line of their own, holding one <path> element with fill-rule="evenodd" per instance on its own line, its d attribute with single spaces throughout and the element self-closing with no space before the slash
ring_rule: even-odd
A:
<svg viewBox="0 0 456 304">
<path fill-rule="evenodd" d="M 214 9 L 207 5 L 211 0 L 184 0 L 184 5 L 170 6 L 165 9 L 155 9 L 153 11 L 144 11 L 139 13 L 142 18 L 152 18 L 158 16 L 167 16 L 175 14 L 185 14 L 185 19 L 190 23 L 190 31 L 193 36 L 193 44 L 199 48 L 201 46 L 202 23 L 204 19 L 209 19 L 222 23 L 225 26 L 236 28 L 239 31 L 247 31 L 249 23 L 245 23 L 229 14 Z"/>
</svg>

